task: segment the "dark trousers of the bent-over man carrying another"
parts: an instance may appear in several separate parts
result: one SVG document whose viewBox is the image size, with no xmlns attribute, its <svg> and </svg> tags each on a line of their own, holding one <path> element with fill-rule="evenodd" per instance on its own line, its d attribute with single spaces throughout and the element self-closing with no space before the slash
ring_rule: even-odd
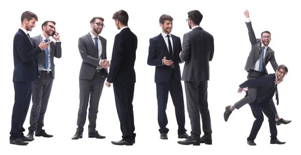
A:
<svg viewBox="0 0 301 155">
<path fill-rule="evenodd" d="M 247 140 L 254 140 L 257 136 L 257 133 L 263 122 L 263 113 L 268 117 L 268 124 L 271 133 L 271 140 L 277 139 L 277 128 L 275 121 L 275 114 L 272 111 L 269 100 L 262 101 L 261 103 L 256 104 L 255 106 L 251 106 L 253 116 L 256 118 L 253 122 L 253 126 Z"/>
</svg>

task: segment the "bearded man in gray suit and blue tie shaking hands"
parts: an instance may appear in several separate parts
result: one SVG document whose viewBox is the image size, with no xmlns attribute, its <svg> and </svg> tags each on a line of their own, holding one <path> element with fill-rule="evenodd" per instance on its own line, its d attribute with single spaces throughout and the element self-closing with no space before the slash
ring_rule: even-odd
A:
<svg viewBox="0 0 301 155">
<path fill-rule="evenodd" d="M 104 27 L 103 21 L 102 17 L 93 17 L 90 21 L 91 31 L 78 39 L 78 49 L 83 61 L 79 72 L 78 127 L 72 139 L 83 136 L 89 100 L 88 137 L 105 138 L 95 130 L 99 99 L 109 67 L 109 60 L 106 59 L 106 39 L 99 35 Z"/>
</svg>

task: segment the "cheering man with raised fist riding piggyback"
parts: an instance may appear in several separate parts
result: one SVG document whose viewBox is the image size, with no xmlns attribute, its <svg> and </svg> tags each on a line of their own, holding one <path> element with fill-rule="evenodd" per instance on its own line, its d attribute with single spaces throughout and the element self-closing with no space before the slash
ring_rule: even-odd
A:
<svg viewBox="0 0 301 155">
<path fill-rule="evenodd" d="M 249 39 L 252 44 L 251 51 L 249 53 L 246 65 L 245 65 L 245 70 L 248 72 L 247 79 L 252 79 L 252 78 L 259 78 L 265 74 L 267 74 L 266 70 L 266 64 L 268 62 L 271 63 L 273 69 L 276 71 L 278 68 L 278 64 L 275 60 L 274 56 L 274 51 L 268 46 L 270 40 L 271 40 L 271 33 L 269 31 L 263 31 L 261 33 L 261 38 L 255 37 L 254 30 L 252 28 L 252 24 L 249 18 L 249 11 L 245 10 L 244 15 L 246 17 L 246 25 L 248 28 L 248 33 L 249 33 Z M 244 98 L 236 102 L 234 105 L 228 105 L 226 106 L 226 110 L 224 112 L 224 119 L 225 121 L 228 120 L 230 114 L 232 111 L 236 108 L 239 109 L 243 105 L 252 102 L 256 99 L 256 92 L 257 88 L 256 87 L 248 87 L 247 89 L 248 95 L 246 95 Z M 277 99 L 277 98 L 276 98 Z M 272 110 L 274 111 L 275 114 L 275 119 L 276 119 L 276 124 L 287 124 L 291 120 L 285 120 L 283 118 L 280 118 L 278 116 L 275 104 L 273 102 L 273 99 L 270 99 L 270 105 Z M 278 100 L 277 100 L 277 105 L 278 105 Z"/>
</svg>

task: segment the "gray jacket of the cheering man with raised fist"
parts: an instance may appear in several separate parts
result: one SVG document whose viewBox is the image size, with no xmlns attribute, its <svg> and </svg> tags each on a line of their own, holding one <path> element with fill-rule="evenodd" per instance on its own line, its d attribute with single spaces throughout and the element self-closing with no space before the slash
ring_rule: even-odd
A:
<svg viewBox="0 0 301 155">
<path fill-rule="evenodd" d="M 254 30 L 252 28 L 252 23 L 251 22 L 246 22 L 247 24 L 247 28 L 248 28 L 248 33 L 249 33 L 249 39 L 250 42 L 252 44 L 251 47 L 251 51 L 249 53 L 246 65 L 245 65 L 245 70 L 249 71 L 256 63 L 256 61 L 259 59 L 260 57 L 260 51 L 261 51 L 261 40 L 260 38 L 256 38 L 255 37 L 255 33 Z M 276 71 L 276 69 L 278 68 L 278 64 L 275 60 L 275 55 L 274 55 L 274 51 L 272 48 L 270 48 L 269 46 L 266 49 L 265 55 L 264 55 L 264 70 L 266 73 L 266 64 L 270 62 L 273 69 Z"/>
</svg>

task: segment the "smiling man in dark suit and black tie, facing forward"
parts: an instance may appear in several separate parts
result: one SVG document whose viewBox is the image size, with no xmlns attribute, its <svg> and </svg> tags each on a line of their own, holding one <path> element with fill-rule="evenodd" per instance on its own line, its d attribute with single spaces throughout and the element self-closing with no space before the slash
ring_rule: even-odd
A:
<svg viewBox="0 0 301 155">
<path fill-rule="evenodd" d="M 155 82 L 158 100 L 158 123 L 161 139 L 168 139 L 169 128 L 166 108 L 168 93 L 171 93 L 178 122 L 178 138 L 188 138 L 185 129 L 185 110 L 183 89 L 181 83 L 181 60 L 179 53 L 182 50 L 180 37 L 171 34 L 173 17 L 163 14 L 159 18 L 162 32 L 149 39 L 147 64 L 156 66 Z"/>
</svg>

